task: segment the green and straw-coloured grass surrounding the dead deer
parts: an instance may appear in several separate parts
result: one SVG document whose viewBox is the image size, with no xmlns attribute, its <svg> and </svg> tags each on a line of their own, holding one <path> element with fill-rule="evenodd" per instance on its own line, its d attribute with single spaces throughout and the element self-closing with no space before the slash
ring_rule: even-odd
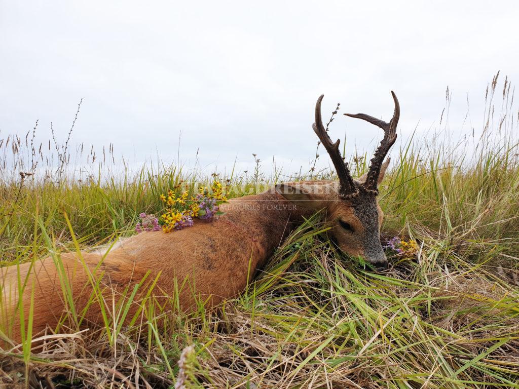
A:
<svg viewBox="0 0 519 389">
<path fill-rule="evenodd" d="M 35 343 L 29 320 L 22 346 L 0 351 L 0 383 L 49 388 L 175 383 L 185 388 L 519 387 L 519 116 L 512 110 L 508 80 L 501 106 L 495 107 L 501 95 L 497 80 L 486 93 L 481 136 L 453 142 L 442 118 L 427 144 L 412 138 L 393 150 L 394 168 L 380 197 L 386 214 L 383 240 L 412 238 L 419 251 L 392 256 L 390 271 L 364 270 L 339 253 L 315 215 L 278 248 L 241 296 L 217 312 L 200 302 L 193 315 L 173 315 L 174 298 L 170 308 L 149 300 L 132 326 L 122 326 L 135 296 L 132 289 L 114 301 L 92 296 L 92 303 L 98 299 L 104 307 L 104 325 L 80 331 L 84 312 L 74 307 L 70 285 L 63 282 L 67 321 L 56 335 L 48 332 Z M 33 143 L 17 137 L 0 141 L 2 265 L 49 252 L 59 261 L 60 252 L 112 243 L 133 233 L 140 212 L 159 209 L 161 192 L 181 180 L 195 185 L 209 178 L 186 174 L 178 166 L 78 178 L 67 171 L 72 169 L 70 146 L 56 142 L 58 157 L 52 161 Z M 79 157 L 83 149 L 76 149 Z M 99 172 L 115 161 L 112 146 L 100 164 L 99 159 L 92 162 L 93 149 L 87 149 L 92 151 L 86 165 L 99 166 Z M 231 197 L 279 182 L 279 172 L 265 178 L 254 159 L 254 176 L 233 172 L 221 177 L 228 180 Z M 366 170 L 365 161 L 366 155 L 352 161 L 359 174 Z M 59 171 L 51 169 L 56 165 Z M 151 290 L 155 281 L 138 287 Z M 19 284 L 32 287 L 22 279 Z"/>
</svg>

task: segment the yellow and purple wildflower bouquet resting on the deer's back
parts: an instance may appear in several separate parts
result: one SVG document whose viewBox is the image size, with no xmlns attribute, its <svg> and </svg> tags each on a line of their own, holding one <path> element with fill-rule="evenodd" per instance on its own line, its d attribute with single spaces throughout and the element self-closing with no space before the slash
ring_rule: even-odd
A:
<svg viewBox="0 0 519 389">
<path fill-rule="evenodd" d="M 180 188 L 180 185 L 175 189 Z M 157 231 L 160 228 L 164 232 L 180 230 L 193 226 L 195 217 L 212 220 L 215 215 L 223 213 L 220 212 L 220 205 L 227 201 L 227 197 L 222 184 L 214 180 L 210 188 L 199 187 L 195 196 L 189 196 L 187 188 L 178 195 L 169 189 L 167 195 L 160 195 L 160 200 L 165 205 L 160 218 L 142 213 L 141 222 L 135 227 L 137 232 Z"/>
</svg>

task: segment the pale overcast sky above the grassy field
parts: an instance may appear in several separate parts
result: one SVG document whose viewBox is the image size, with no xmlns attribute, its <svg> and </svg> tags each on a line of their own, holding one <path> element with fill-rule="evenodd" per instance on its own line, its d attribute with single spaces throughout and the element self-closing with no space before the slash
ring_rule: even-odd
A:
<svg viewBox="0 0 519 389">
<path fill-rule="evenodd" d="M 115 144 L 138 163 L 158 155 L 207 169 L 308 166 L 313 107 L 389 119 L 401 138 L 438 126 L 453 92 L 451 131 L 481 128 L 484 91 L 519 78 L 517 1 L 132 2 L 0 0 L 0 131 L 36 119 L 73 141 Z M 502 79 L 501 79 L 502 80 Z M 467 113 L 470 120 L 461 129 Z M 373 149 L 377 128 L 340 116 L 348 151 Z M 429 131 L 429 132 L 428 132 Z M 322 159 L 323 164 L 329 161 Z"/>
</svg>

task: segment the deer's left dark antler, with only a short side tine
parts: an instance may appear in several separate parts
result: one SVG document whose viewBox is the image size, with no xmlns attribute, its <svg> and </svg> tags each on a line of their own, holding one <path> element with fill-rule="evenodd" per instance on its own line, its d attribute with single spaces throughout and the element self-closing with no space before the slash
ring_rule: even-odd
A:
<svg viewBox="0 0 519 389">
<path fill-rule="evenodd" d="M 324 94 L 321 94 L 319 99 L 317 99 L 316 103 L 316 122 L 313 123 L 313 131 L 319 137 L 319 140 L 323 144 L 324 148 L 330 155 L 332 159 L 333 165 L 335 166 L 335 170 L 337 171 L 337 175 L 339 177 L 340 183 L 340 192 L 339 196 L 343 199 L 349 199 L 357 196 L 359 193 L 359 189 L 353 183 L 353 179 L 351 178 L 350 172 L 348 170 L 348 163 L 344 162 L 343 157 L 340 155 L 339 151 L 339 143 L 340 140 L 337 139 L 335 143 L 332 143 L 330 136 L 328 136 L 326 130 L 324 129 L 322 118 L 321 118 L 321 102 L 324 98 Z"/>
</svg>

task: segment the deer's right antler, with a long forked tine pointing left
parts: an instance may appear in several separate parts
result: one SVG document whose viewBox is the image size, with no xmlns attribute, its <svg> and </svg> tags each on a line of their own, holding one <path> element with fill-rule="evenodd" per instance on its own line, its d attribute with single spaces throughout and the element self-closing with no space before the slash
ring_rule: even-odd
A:
<svg viewBox="0 0 519 389">
<path fill-rule="evenodd" d="M 389 149 L 397 140 L 397 124 L 398 119 L 400 119 L 400 104 L 398 102 L 397 95 L 394 94 L 393 91 L 391 91 L 391 94 L 393 95 L 394 100 L 394 114 L 389 123 L 376 119 L 370 115 L 344 114 L 352 118 L 366 120 L 384 130 L 384 139 L 380 142 L 380 146 L 378 146 L 375 151 L 373 159 L 371 160 L 370 170 L 368 170 L 366 181 L 363 184 L 364 189 L 368 192 L 374 193 L 375 196 L 378 195 L 377 180 L 378 176 L 380 175 L 380 166 L 382 165 L 382 162 L 384 162 L 384 159 L 386 158 Z"/>
</svg>

